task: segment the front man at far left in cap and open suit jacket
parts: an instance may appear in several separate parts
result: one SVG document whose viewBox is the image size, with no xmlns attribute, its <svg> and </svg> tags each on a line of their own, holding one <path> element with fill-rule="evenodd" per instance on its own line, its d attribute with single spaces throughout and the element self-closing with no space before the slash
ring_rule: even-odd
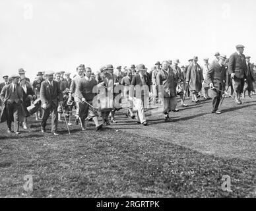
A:
<svg viewBox="0 0 256 211">
<path fill-rule="evenodd" d="M 13 82 L 4 86 L 0 94 L 0 98 L 3 102 L 1 120 L 2 118 L 7 120 L 7 133 L 11 133 L 11 124 L 12 121 L 14 121 L 14 132 L 18 135 L 18 120 L 20 115 L 19 107 L 22 104 L 23 93 L 21 86 L 18 84 L 20 76 L 13 75 L 11 78 L 13 79 Z"/>
</svg>

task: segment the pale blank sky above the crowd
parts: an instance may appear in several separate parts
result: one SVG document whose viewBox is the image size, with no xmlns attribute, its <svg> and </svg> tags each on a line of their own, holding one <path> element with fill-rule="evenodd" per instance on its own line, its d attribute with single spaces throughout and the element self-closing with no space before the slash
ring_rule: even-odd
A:
<svg viewBox="0 0 256 211">
<path fill-rule="evenodd" d="M 1 0 L 0 77 L 19 68 L 98 71 L 197 55 L 229 55 L 237 44 L 256 61 L 255 0 Z"/>
</svg>

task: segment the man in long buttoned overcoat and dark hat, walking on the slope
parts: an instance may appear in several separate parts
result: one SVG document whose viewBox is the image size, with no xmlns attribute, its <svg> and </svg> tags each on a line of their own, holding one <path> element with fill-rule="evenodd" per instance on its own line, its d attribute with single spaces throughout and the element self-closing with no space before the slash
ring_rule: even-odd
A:
<svg viewBox="0 0 256 211">
<path fill-rule="evenodd" d="M 192 92 L 192 102 L 199 102 L 197 99 L 198 92 L 201 91 L 203 82 L 203 71 L 197 64 L 198 57 L 193 58 L 193 64 L 187 68 L 186 83 L 189 85 L 189 90 Z"/>
</svg>

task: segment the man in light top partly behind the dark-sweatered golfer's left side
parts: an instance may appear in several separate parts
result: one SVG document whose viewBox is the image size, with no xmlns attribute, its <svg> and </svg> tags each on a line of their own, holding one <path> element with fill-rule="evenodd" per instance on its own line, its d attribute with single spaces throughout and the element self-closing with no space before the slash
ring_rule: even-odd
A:
<svg viewBox="0 0 256 211">
<path fill-rule="evenodd" d="M 70 104 L 72 99 L 74 98 L 75 104 L 76 104 L 76 125 L 79 124 L 79 98 L 77 97 L 77 85 L 79 80 L 81 80 L 81 78 L 84 77 L 84 65 L 79 65 L 79 67 L 77 67 L 77 76 L 75 76 L 71 82 L 70 85 L 70 92 L 69 92 L 69 100 L 67 104 Z"/>
</svg>

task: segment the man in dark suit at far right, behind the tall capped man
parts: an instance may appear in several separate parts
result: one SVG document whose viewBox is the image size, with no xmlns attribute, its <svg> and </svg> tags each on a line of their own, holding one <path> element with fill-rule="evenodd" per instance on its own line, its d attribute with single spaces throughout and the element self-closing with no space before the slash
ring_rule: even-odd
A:
<svg viewBox="0 0 256 211">
<path fill-rule="evenodd" d="M 251 92 L 253 92 L 253 82 L 255 81 L 255 75 L 253 74 L 253 65 L 250 63 L 249 56 L 245 57 L 246 60 L 246 79 L 243 87 L 243 98 L 245 98 L 245 92 L 248 91 L 248 96 L 251 98 Z"/>
</svg>

